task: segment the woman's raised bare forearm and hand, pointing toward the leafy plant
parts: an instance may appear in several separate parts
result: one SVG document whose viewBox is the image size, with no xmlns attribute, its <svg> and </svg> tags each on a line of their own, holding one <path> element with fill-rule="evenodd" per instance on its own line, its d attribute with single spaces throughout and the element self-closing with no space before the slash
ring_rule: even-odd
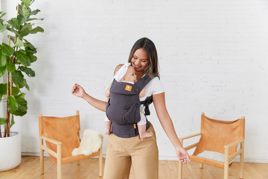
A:
<svg viewBox="0 0 268 179">
<path fill-rule="evenodd" d="M 75 83 L 72 88 L 72 94 L 77 97 L 83 98 L 85 101 L 87 101 L 91 106 L 95 107 L 96 109 L 99 109 L 104 112 L 106 111 L 107 102 L 98 100 L 88 95 L 85 92 L 85 90 L 77 83 Z"/>
</svg>

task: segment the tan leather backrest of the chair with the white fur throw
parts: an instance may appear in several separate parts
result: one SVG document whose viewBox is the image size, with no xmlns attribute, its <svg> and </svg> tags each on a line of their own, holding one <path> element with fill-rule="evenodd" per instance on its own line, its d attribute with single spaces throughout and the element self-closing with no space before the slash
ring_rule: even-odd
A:
<svg viewBox="0 0 268 179">
<path fill-rule="evenodd" d="M 79 134 L 80 121 L 78 115 L 68 117 L 48 117 L 39 115 L 39 136 L 46 136 L 56 141 L 62 142 L 61 156 L 62 158 L 70 157 L 74 148 L 80 145 Z M 57 145 L 46 142 L 46 146 L 57 152 Z M 54 163 L 57 163 L 57 158 L 50 155 Z"/>
</svg>

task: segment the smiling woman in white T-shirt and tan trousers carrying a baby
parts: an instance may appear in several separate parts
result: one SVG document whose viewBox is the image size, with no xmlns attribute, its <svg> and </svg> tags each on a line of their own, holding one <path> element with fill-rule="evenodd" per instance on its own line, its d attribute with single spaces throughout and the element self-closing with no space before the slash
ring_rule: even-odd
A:
<svg viewBox="0 0 268 179">
<path fill-rule="evenodd" d="M 155 44 L 148 38 L 141 38 L 135 42 L 128 62 L 134 67 L 137 80 L 146 74 L 150 77 L 152 77 L 152 73 L 159 75 Z M 165 93 L 161 88 L 161 82 L 155 77 L 145 87 L 147 87 L 145 91 L 148 93 L 145 98 L 152 95 L 157 117 L 166 135 L 175 147 L 178 160 L 182 163 L 190 162 L 188 152 L 182 147 L 167 112 Z M 107 102 L 91 97 L 77 83 L 72 88 L 72 94 L 83 98 L 93 107 L 105 112 Z M 143 105 L 141 105 L 142 107 Z M 145 113 L 144 110 L 143 113 Z M 153 132 L 153 136 L 149 138 L 139 138 L 138 135 L 121 138 L 114 135 L 113 132 L 108 135 L 104 179 L 129 178 L 131 164 L 133 166 L 134 178 L 158 178 L 158 147 L 155 130 L 152 124 L 149 124 L 150 127 L 146 132 Z"/>
</svg>

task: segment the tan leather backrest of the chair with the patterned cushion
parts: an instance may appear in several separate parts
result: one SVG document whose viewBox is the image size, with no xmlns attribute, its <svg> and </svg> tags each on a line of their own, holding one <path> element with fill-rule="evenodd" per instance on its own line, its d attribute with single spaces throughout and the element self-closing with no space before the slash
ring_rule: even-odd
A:
<svg viewBox="0 0 268 179">
<path fill-rule="evenodd" d="M 224 154 L 224 146 L 228 143 L 244 139 L 245 119 L 236 121 L 219 121 L 201 115 L 201 138 L 193 155 L 197 155 L 204 150 L 220 152 Z M 236 152 L 238 144 L 231 147 L 229 155 Z"/>
</svg>

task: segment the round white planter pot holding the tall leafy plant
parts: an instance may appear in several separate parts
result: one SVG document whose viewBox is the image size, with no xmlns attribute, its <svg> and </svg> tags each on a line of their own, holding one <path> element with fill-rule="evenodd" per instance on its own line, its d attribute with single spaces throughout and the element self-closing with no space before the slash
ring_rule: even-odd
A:
<svg viewBox="0 0 268 179">
<path fill-rule="evenodd" d="M 1 132 L 1 135 L 4 134 Z M 21 163 L 21 133 L 10 132 L 0 138 L 0 172 L 16 168 Z"/>
</svg>

